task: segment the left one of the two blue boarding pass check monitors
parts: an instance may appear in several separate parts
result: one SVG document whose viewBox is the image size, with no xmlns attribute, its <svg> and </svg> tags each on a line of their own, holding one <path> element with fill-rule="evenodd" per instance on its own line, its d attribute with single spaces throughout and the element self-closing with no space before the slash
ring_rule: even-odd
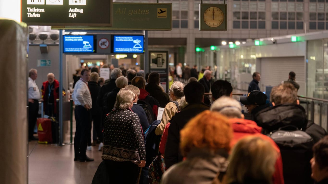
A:
<svg viewBox="0 0 328 184">
<path fill-rule="evenodd" d="M 94 35 L 64 35 L 64 53 L 93 53 Z"/>
</svg>

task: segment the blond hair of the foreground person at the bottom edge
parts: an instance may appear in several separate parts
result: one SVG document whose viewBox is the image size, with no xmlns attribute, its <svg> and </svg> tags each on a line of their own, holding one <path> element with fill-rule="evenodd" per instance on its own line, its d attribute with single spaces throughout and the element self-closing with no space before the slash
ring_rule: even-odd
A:
<svg viewBox="0 0 328 184">
<path fill-rule="evenodd" d="M 260 137 L 237 142 L 229 156 L 227 184 L 271 184 L 277 152 Z"/>
</svg>

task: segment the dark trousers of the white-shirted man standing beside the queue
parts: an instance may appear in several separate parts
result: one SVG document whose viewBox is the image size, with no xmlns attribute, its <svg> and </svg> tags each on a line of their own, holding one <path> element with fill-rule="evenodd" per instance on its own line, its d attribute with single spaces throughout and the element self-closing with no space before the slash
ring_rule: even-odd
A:
<svg viewBox="0 0 328 184">
<path fill-rule="evenodd" d="M 76 131 L 74 136 L 74 155 L 81 158 L 86 156 L 88 135 L 90 134 L 91 114 L 82 105 L 75 106 Z M 88 133 L 89 132 L 89 133 Z"/>
</svg>

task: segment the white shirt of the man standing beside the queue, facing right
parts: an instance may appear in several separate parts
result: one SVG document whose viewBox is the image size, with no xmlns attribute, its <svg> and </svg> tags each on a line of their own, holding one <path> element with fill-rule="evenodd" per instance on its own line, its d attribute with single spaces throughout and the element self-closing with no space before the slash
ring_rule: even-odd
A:
<svg viewBox="0 0 328 184">
<path fill-rule="evenodd" d="M 80 79 L 76 82 L 74 91 L 72 93 L 72 99 L 75 105 L 88 104 L 92 108 L 92 98 L 87 82 L 83 79 Z"/>
</svg>

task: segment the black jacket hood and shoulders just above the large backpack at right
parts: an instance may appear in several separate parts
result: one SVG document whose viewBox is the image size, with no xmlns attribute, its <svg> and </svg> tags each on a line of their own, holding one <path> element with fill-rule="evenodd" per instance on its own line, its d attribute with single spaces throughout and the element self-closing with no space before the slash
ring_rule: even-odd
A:
<svg viewBox="0 0 328 184">
<path fill-rule="evenodd" d="M 293 103 L 283 103 L 263 109 L 256 113 L 254 118 L 257 125 L 263 128 L 263 134 L 287 125 L 293 125 L 299 130 L 305 131 L 308 122 L 305 109 Z"/>
</svg>

